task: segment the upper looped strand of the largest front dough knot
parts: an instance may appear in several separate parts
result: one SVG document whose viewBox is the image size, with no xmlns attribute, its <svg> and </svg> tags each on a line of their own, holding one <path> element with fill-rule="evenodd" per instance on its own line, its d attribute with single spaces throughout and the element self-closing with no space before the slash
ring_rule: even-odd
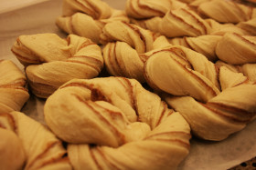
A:
<svg viewBox="0 0 256 170">
<path fill-rule="evenodd" d="M 64 103 L 69 105 L 62 107 Z M 76 116 L 69 114 L 71 110 Z M 115 147 L 127 142 L 127 125 L 139 120 L 155 128 L 171 113 L 157 95 L 145 91 L 137 81 L 114 77 L 70 81 L 51 95 L 45 105 L 46 122 L 62 140 Z M 65 124 L 56 121 L 59 115 Z M 69 128 L 63 134 L 67 125 Z"/>
</svg>

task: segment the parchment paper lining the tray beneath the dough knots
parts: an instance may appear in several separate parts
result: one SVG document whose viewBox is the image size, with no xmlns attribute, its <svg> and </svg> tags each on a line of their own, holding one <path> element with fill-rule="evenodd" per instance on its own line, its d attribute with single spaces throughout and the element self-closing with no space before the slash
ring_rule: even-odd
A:
<svg viewBox="0 0 256 170">
<path fill-rule="evenodd" d="M 124 0 L 105 0 L 112 7 L 123 9 Z M 0 59 L 10 59 L 21 69 L 15 55 L 10 51 L 18 35 L 38 33 L 56 33 L 61 37 L 66 34 L 55 25 L 55 18 L 61 15 L 62 0 L 50 0 L 37 5 L 0 15 Z M 8 10 L 6 10 L 8 11 Z M 44 123 L 44 99 L 31 95 L 22 112 Z M 245 129 L 230 135 L 221 142 L 208 142 L 193 138 L 190 154 L 179 166 L 179 170 L 224 170 L 256 155 L 256 121 L 251 122 Z"/>
</svg>

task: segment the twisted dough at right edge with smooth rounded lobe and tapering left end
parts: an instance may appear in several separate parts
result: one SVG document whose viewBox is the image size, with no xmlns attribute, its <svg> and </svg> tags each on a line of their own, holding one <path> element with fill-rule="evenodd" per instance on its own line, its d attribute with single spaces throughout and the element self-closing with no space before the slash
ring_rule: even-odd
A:
<svg viewBox="0 0 256 170">
<path fill-rule="evenodd" d="M 219 35 L 201 35 L 197 37 L 173 38 L 172 45 L 183 45 L 208 57 L 210 61 L 218 59 L 231 65 L 256 63 L 256 39 L 251 35 L 227 33 Z"/>
</svg>

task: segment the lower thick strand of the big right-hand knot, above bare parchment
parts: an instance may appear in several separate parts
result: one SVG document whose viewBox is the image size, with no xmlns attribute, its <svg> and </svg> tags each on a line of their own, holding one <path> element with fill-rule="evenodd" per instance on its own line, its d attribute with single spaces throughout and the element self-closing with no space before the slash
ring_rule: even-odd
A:
<svg viewBox="0 0 256 170">
<path fill-rule="evenodd" d="M 167 96 L 165 101 L 183 115 L 194 135 L 223 140 L 240 131 L 255 118 L 256 85 L 227 88 L 206 104 L 190 96 Z"/>
</svg>

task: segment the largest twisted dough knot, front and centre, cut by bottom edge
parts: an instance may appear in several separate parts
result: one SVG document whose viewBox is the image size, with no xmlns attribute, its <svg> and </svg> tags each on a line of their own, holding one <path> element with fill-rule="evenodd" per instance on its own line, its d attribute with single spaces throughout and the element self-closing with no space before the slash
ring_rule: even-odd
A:
<svg viewBox="0 0 256 170">
<path fill-rule="evenodd" d="M 72 143 L 75 169 L 168 169 L 188 154 L 187 122 L 133 79 L 71 80 L 48 97 L 44 114 L 51 130 Z"/>
</svg>

